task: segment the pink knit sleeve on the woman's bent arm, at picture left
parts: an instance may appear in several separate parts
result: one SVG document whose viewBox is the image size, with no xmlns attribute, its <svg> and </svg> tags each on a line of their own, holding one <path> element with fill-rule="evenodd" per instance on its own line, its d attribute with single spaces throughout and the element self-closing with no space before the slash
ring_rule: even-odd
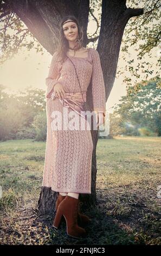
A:
<svg viewBox="0 0 161 256">
<path fill-rule="evenodd" d="M 57 52 L 54 52 L 53 57 L 51 59 L 50 69 L 48 77 L 46 78 L 46 86 L 47 86 L 47 94 L 46 97 L 50 97 L 53 92 L 54 86 L 56 83 L 61 83 L 57 80 L 59 72 L 61 69 L 61 63 L 59 62 L 59 58 Z"/>
</svg>

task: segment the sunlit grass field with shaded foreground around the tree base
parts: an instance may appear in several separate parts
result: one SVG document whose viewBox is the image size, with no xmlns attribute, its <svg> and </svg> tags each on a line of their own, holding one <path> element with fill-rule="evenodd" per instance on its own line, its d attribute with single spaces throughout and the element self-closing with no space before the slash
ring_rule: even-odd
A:
<svg viewBox="0 0 161 256">
<path fill-rule="evenodd" d="M 37 217 L 46 144 L 30 139 L 1 142 L 0 244 L 161 245 L 159 137 L 99 139 L 98 206 L 86 239 L 55 230 L 51 216 Z M 158 193 L 159 194 L 159 193 Z"/>
</svg>

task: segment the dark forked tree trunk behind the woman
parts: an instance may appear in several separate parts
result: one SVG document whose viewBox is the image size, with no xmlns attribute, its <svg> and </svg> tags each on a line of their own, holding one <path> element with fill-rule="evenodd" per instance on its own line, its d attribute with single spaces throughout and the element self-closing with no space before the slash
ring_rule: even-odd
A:
<svg viewBox="0 0 161 256">
<path fill-rule="evenodd" d="M 87 38 L 87 26 L 89 15 L 89 0 L 4 0 L 10 4 L 11 10 L 15 12 L 30 32 L 51 54 L 55 51 L 55 42 L 59 32 L 59 21 L 61 16 L 73 14 L 78 17 L 81 26 L 83 26 L 83 46 L 98 39 Z M 126 0 L 102 0 L 102 14 L 98 50 L 104 74 L 106 87 L 106 101 L 113 87 L 121 40 L 124 28 L 128 20 L 133 16 L 143 14 L 144 9 L 132 9 L 126 7 Z M 87 102 L 91 105 L 89 94 L 92 94 L 91 87 L 87 91 Z M 83 206 L 87 207 L 96 204 L 96 145 L 98 142 L 98 131 L 91 131 L 93 139 L 93 157 L 92 157 L 92 193 L 80 194 L 79 199 Z M 42 214 L 51 213 L 55 209 L 57 192 L 50 188 L 42 187 L 40 199 L 38 200 L 38 210 Z"/>
</svg>

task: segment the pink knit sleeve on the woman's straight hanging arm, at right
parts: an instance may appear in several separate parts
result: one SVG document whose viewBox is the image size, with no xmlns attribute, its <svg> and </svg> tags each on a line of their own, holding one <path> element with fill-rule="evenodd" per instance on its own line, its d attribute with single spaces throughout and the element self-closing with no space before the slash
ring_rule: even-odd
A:
<svg viewBox="0 0 161 256">
<path fill-rule="evenodd" d="M 106 93 L 104 76 L 102 73 L 100 57 L 98 51 L 92 49 L 93 70 L 92 70 L 92 95 L 93 110 L 96 112 L 106 111 Z"/>
</svg>

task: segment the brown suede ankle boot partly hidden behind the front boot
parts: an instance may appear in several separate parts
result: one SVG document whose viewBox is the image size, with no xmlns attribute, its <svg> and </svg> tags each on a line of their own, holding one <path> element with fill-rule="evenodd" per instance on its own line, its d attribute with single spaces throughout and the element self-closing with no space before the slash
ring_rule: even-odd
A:
<svg viewBox="0 0 161 256">
<path fill-rule="evenodd" d="M 59 206 L 59 204 L 62 202 L 62 200 L 64 200 L 66 198 L 66 196 L 62 196 L 61 194 L 59 194 L 59 196 L 57 197 L 57 201 L 56 201 L 56 206 L 55 206 L 55 212 L 57 211 L 57 208 Z M 65 218 L 62 218 L 63 221 L 65 221 Z M 88 223 L 91 222 L 91 219 L 88 218 L 88 216 L 81 214 L 79 212 L 79 205 L 78 205 L 78 224 L 79 225 L 86 225 Z"/>
</svg>

